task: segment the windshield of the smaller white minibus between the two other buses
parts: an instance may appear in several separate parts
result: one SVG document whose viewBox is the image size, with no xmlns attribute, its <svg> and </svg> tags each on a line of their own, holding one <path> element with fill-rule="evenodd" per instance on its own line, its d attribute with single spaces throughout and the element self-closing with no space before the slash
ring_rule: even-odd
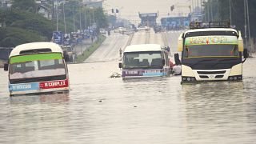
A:
<svg viewBox="0 0 256 144">
<path fill-rule="evenodd" d="M 161 51 L 127 52 L 124 53 L 123 69 L 162 68 Z"/>
</svg>

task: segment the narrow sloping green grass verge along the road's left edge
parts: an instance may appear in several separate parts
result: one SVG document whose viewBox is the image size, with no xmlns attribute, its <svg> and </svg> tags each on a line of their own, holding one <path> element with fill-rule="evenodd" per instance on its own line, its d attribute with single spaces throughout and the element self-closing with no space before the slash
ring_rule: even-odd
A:
<svg viewBox="0 0 256 144">
<path fill-rule="evenodd" d="M 76 63 L 82 63 L 86 60 L 86 58 L 89 58 L 90 54 L 93 54 L 95 50 L 98 49 L 99 46 L 102 45 L 102 42 L 104 42 L 106 39 L 106 36 L 100 35 L 98 36 L 98 40 L 94 42 L 90 47 L 88 47 L 82 55 L 78 55 L 78 58 L 75 59 Z"/>
</svg>

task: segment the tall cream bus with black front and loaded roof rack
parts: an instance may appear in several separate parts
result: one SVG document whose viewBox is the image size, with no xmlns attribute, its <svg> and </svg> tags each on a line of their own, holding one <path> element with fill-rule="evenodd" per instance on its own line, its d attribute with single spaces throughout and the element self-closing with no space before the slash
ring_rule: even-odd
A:
<svg viewBox="0 0 256 144">
<path fill-rule="evenodd" d="M 242 81 L 242 63 L 248 58 L 242 34 L 230 22 L 191 22 L 178 38 L 183 82 Z M 242 61 L 242 53 L 245 58 Z"/>
</svg>

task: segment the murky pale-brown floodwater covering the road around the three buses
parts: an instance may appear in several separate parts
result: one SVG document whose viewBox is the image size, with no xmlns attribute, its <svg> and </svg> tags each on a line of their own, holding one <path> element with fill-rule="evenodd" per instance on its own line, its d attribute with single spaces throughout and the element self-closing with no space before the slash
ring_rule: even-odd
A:
<svg viewBox="0 0 256 144">
<path fill-rule="evenodd" d="M 166 33 L 174 39 L 170 47 L 176 33 Z M 152 38 L 152 31 L 152 37 L 143 35 L 134 34 L 131 43 L 166 43 Z M 118 50 L 128 41 L 129 36 L 112 34 L 95 52 L 95 62 L 69 65 L 70 94 L 10 98 L 7 73 L 0 70 L 0 143 L 256 142 L 254 58 L 244 65 L 243 82 L 180 85 L 179 76 L 110 78 L 120 73 Z M 98 59 L 97 53 L 106 57 Z"/>
</svg>

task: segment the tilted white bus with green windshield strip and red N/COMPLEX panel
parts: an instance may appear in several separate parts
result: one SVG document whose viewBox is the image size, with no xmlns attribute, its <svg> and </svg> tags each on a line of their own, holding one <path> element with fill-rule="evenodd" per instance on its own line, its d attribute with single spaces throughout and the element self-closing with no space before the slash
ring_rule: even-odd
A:
<svg viewBox="0 0 256 144">
<path fill-rule="evenodd" d="M 16 46 L 9 64 L 10 96 L 18 94 L 67 93 L 70 90 L 68 57 L 53 42 L 33 42 Z"/>
</svg>

